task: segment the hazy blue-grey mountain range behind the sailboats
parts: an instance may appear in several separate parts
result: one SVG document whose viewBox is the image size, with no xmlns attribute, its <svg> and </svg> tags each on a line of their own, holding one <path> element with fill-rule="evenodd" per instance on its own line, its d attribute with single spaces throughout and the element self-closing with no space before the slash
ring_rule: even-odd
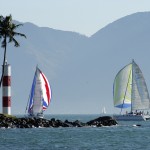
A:
<svg viewBox="0 0 150 150">
<path fill-rule="evenodd" d="M 23 23 L 18 31 L 27 39 L 18 37 L 21 46 L 9 45 L 7 49 L 12 66 L 12 113 L 24 113 L 36 65 L 52 88 L 46 113 L 101 113 L 103 106 L 107 113 L 117 112 L 113 107 L 113 81 L 132 59 L 141 67 L 150 89 L 149 18 L 150 12 L 135 13 L 91 37 Z"/>
</svg>

